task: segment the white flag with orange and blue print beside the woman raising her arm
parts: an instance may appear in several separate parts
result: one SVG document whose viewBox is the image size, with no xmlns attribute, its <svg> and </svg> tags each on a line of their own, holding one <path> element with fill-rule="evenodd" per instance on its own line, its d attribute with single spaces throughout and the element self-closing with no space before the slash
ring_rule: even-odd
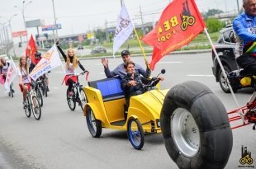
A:
<svg viewBox="0 0 256 169">
<path fill-rule="evenodd" d="M 38 77 L 60 65 L 62 65 L 62 63 L 59 59 L 59 53 L 56 46 L 53 45 L 50 50 L 42 55 L 42 59 L 36 64 L 36 67 L 33 68 L 29 76 L 36 81 Z"/>
</svg>

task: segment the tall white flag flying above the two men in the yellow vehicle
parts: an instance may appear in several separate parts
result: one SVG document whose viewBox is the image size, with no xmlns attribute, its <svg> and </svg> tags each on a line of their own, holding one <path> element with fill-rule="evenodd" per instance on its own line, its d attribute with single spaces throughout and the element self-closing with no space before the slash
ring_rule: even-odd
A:
<svg viewBox="0 0 256 169">
<path fill-rule="evenodd" d="M 121 12 L 117 18 L 116 24 L 116 32 L 114 35 L 113 42 L 113 54 L 116 53 L 116 50 L 121 47 L 125 43 L 125 41 L 129 38 L 130 34 L 134 30 L 133 23 L 130 20 L 129 14 L 126 10 L 125 3 L 123 3 L 121 7 Z"/>
</svg>

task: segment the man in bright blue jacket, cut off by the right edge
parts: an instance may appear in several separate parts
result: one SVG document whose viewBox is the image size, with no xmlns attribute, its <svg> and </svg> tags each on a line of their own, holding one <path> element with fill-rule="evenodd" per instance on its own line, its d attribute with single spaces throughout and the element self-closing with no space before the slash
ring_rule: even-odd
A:
<svg viewBox="0 0 256 169">
<path fill-rule="evenodd" d="M 243 0 L 243 7 L 244 12 L 233 21 L 237 36 L 235 56 L 245 73 L 256 74 L 256 0 Z"/>
</svg>

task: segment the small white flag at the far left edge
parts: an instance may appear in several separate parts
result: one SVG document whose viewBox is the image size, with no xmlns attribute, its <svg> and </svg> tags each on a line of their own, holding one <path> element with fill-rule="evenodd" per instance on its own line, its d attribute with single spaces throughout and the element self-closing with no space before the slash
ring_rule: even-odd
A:
<svg viewBox="0 0 256 169">
<path fill-rule="evenodd" d="M 17 75 L 18 75 L 18 71 L 11 56 L 10 65 L 7 69 L 7 77 L 4 83 L 5 92 L 10 92 L 10 85 L 12 84 L 13 79 L 17 77 Z"/>
</svg>

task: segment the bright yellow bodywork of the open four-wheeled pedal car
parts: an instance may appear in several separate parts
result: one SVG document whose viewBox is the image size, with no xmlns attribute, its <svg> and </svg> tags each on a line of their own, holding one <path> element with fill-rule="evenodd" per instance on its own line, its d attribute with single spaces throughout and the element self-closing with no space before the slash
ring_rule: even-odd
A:
<svg viewBox="0 0 256 169">
<path fill-rule="evenodd" d="M 88 103 L 84 108 L 83 114 L 86 115 L 90 107 L 97 120 L 102 121 L 102 127 L 110 129 L 126 130 L 127 120 L 134 117 L 140 121 L 145 132 L 160 132 L 156 121 L 159 120 L 160 111 L 163 106 L 164 96 L 168 90 L 151 90 L 138 96 L 130 97 L 130 107 L 127 118 L 124 115 L 124 105 L 126 99 L 124 97 L 103 101 L 102 94 L 93 87 L 84 87 Z M 117 125 L 115 123 L 122 122 Z M 153 126 L 154 125 L 154 129 Z"/>
</svg>

